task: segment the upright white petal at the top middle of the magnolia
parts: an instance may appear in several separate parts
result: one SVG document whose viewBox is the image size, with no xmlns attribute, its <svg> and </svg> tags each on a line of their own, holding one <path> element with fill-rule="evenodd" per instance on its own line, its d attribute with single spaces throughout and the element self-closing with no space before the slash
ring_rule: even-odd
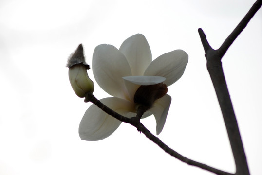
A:
<svg viewBox="0 0 262 175">
<path fill-rule="evenodd" d="M 120 46 L 131 67 L 132 75 L 143 75 L 152 61 L 152 54 L 147 39 L 142 34 L 127 38 Z"/>
</svg>

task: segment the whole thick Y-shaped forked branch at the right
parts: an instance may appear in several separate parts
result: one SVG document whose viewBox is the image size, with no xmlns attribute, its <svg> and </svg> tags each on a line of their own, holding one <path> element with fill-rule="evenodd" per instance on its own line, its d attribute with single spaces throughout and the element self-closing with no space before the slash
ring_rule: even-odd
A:
<svg viewBox="0 0 262 175">
<path fill-rule="evenodd" d="M 225 127 L 230 141 L 231 149 L 236 164 L 235 175 L 249 175 L 247 160 L 238 128 L 237 119 L 234 113 L 233 105 L 227 89 L 225 75 L 222 68 L 221 59 L 228 50 L 233 41 L 243 31 L 250 19 L 255 15 L 262 5 L 262 0 L 257 0 L 245 17 L 241 20 L 234 31 L 225 39 L 225 42 L 218 50 L 212 49 L 208 44 L 206 35 L 202 29 L 198 29 L 201 42 L 203 44 L 206 56 L 206 66 L 214 85 L 219 105 L 223 114 Z"/>
</svg>

